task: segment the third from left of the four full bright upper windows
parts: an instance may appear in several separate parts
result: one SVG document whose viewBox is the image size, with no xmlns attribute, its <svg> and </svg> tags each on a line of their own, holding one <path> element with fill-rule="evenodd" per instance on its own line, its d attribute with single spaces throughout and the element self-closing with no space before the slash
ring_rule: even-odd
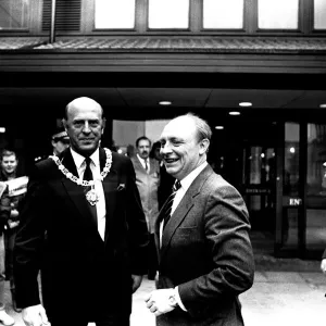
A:
<svg viewBox="0 0 326 326">
<path fill-rule="evenodd" d="M 243 28 L 243 0 L 203 0 L 203 28 Z"/>
</svg>

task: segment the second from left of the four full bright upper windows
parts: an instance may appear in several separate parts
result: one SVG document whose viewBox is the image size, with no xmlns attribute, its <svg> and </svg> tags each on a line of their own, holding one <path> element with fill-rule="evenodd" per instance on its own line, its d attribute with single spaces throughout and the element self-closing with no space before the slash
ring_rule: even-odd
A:
<svg viewBox="0 0 326 326">
<path fill-rule="evenodd" d="M 148 0 L 149 28 L 188 28 L 189 0 Z"/>
</svg>

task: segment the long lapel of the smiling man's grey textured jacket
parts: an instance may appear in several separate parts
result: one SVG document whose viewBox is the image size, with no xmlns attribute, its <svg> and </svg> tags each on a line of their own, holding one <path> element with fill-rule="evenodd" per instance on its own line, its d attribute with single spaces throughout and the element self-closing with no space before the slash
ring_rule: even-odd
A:
<svg viewBox="0 0 326 326">
<path fill-rule="evenodd" d="M 173 235 L 175 234 L 177 227 L 181 224 L 181 222 L 186 218 L 192 206 L 195 205 L 195 198 L 200 193 L 200 190 L 206 180 L 206 178 L 213 173 L 213 170 L 210 165 L 208 165 L 192 181 L 178 206 L 172 214 L 168 223 L 166 224 L 163 235 L 162 235 L 162 246 L 161 246 L 161 259 L 166 252 L 168 244 Z M 163 209 L 161 210 L 163 212 Z M 160 217 L 160 216 L 159 216 Z M 162 217 L 161 217 L 162 218 Z M 158 230 L 158 228 L 155 228 Z"/>
</svg>

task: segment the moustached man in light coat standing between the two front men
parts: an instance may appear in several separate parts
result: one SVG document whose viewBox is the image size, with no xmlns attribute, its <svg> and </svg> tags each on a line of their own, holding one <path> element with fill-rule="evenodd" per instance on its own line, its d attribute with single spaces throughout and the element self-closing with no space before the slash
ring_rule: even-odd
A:
<svg viewBox="0 0 326 326">
<path fill-rule="evenodd" d="M 158 269 L 158 255 L 154 243 L 153 225 L 159 215 L 158 189 L 160 186 L 160 165 L 156 160 L 149 158 L 150 150 L 150 139 L 146 136 L 139 137 L 136 140 L 136 155 L 131 156 L 131 162 L 134 164 L 136 184 L 150 234 L 148 278 L 154 279 Z"/>
</svg>

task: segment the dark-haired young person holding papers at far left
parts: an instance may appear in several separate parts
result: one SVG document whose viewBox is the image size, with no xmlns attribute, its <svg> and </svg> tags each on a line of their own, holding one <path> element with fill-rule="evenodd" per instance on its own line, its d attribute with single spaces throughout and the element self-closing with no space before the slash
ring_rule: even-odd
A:
<svg viewBox="0 0 326 326">
<path fill-rule="evenodd" d="M 16 308 L 15 300 L 15 283 L 13 275 L 13 248 L 17 226 L 20 224 L 20 206 L 27 190 L 28 178 L 17 174 L 18 159 L 13 150 L 3 149 L 1 153 L 1 171 L 0 180 L 8 185 L 10 197 L 10 217 L 4 230 L 4 248 L 5 248 L 5 278 L 10 280 L 10 290 L 12 294 L 13 309 Z"/>
</svg>

